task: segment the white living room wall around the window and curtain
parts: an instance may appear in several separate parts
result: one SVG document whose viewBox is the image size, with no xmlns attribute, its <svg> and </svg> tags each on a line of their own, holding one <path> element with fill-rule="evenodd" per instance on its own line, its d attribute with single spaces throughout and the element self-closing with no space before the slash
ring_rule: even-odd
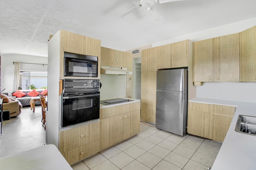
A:
<svg viewBox="0 0 256 170">
<path fill-rule="evenodd" d="M 3 92 L 12 93 L 13 79 L 14 79 L 14 64 L 13 62 L 19 61 L 22 63 L 37 63 L 37 64 L 20 64 L 20 70 L 26 71 L 47 71 L 47 57 L 36 57 L 30 55 L 18 55 L 18 54 L 2 54 L 2 69 L 1 69 L 1 89 Z"/>
</svg>

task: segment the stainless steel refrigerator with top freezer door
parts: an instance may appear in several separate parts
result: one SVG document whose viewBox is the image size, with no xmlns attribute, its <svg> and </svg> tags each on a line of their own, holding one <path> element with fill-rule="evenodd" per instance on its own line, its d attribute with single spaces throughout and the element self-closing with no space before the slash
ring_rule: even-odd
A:
<svg viewBox="0 0 256 170">
<path fill-rule="evenodd" d="M 156 74 L 156 127 L 177 135 L 187 132 L 188 70 L 158 70 Z"/>
</svg>

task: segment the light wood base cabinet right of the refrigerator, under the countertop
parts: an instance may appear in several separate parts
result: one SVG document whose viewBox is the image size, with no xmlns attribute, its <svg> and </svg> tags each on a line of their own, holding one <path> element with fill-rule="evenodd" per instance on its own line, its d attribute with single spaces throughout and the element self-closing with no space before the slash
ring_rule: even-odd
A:
<svg viewBox="0 0 256 170">
<path fill-rule="evenodd" d="M 188 104 L 188 133 L 223 142 L 235 113 L 235 106 Z"/>
</svg>

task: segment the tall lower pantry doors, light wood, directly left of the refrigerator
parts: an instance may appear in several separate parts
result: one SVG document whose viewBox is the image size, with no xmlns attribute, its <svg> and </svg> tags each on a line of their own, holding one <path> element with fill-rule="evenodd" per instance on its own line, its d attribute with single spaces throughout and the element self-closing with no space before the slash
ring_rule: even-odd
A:
<svg viewBox="0 0 256 170">
<path fill-rule="evenodd" d="M 156 123 L 156 72 L 141 72 L 141 119 Z"/>
</svg>

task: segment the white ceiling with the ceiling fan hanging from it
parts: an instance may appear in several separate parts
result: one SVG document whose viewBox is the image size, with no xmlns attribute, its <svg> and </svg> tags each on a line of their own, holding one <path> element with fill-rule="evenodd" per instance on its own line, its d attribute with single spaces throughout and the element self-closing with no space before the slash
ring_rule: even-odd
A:
<svg viewBox="0 0 256 170">
<path fill-rule="evenodd" d="M 256 0 L 185 0 L 157 4 L 160 21 L 139 0 L 0 0 L 0 52 L 47 57 L 59 29 L 126 51 L 256 17 Z"/>
</svg>

